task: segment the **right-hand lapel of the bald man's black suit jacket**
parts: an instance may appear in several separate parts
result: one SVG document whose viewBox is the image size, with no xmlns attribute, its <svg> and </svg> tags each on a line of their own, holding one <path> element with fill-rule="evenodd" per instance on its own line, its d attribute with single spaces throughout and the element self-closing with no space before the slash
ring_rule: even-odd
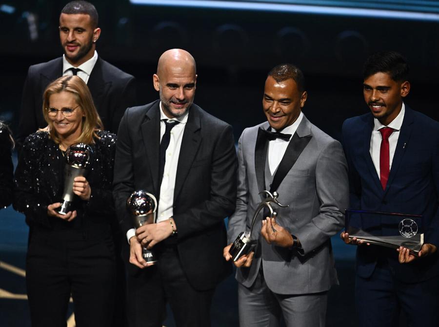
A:
<svg viewBox="0 0 439 327">
<path fill-rule="evenodd" d="M 191 108 L 189 109 L 189 115 L 187 117 L 186 126 L 184 127 L 183 137 L 181 139 L 179 162 L 177 164 L 177 175 L 175 178 L 174 203 L 177 202 L 177 197 L 180 194 L 186 176 L 189 173 L 195 156 L 198 153 L 198 149 L 200 148 L 200 129 L 200 108 L 197 105 L 192 104 Z"/>
</svg>

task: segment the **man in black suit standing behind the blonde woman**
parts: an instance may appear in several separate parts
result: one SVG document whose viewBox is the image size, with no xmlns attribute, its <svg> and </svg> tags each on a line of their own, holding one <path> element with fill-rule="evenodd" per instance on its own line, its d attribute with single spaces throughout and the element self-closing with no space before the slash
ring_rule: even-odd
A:
<svg viewBox="0 0 439 327">
<path fill-rule="evenodd" d="M 102 60 L 96 52 L 100 36 L 98 12 L 86 1 L 72 1 L 60 14 L 60 41 L 64 55 L 29 67 L 21 101 L 17 143 L 47 126 L 42 115 L 46 86 L 65 75 L 78 75 L 88 85 L 104 129 L 116 133 L 125 109 L 136 104 L 133 76 Z"/>
</svg>

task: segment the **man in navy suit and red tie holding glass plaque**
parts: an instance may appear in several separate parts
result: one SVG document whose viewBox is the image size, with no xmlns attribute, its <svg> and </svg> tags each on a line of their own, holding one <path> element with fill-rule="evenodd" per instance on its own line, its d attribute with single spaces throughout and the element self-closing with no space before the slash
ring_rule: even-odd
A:
<svg viewBox="0 0 439 327">
<path fill-rule="evenodd" d="M 343 124 L 350 207 L 422 215 L 418 255 L 359 244 L 356 304 L 361 327 L 437 326 L 439 294 L 439 123 L 410 109 L 408 65 L 379 52 L 364 66 L 363 94 L 370 114 Z M 349 241 L 347 233 L 341 237 Z"/>
</svg>

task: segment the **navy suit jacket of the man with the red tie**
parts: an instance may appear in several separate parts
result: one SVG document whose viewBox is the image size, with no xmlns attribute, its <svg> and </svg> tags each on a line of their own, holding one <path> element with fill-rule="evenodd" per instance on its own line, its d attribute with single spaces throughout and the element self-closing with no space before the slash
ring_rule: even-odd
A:
<svg viewBox="0 0 439 327">
<path fill-rule="evenodd" d="M 424 243 L 439 248 L 439 123 L 405 106 L 385 190 L 369 152 L 373 126 L 370 113 L 343 123 L 350 208 L 422 215 Z M 402 281 L 417 282 L 439 275 L 438 252 L 411 264 L 399 264 L 396 250 L 373 245 L 358 247 L 358 275 L 369 277 L 377 260 L 382 259 L 388 261 L 392 273 Z"/>
</svg>

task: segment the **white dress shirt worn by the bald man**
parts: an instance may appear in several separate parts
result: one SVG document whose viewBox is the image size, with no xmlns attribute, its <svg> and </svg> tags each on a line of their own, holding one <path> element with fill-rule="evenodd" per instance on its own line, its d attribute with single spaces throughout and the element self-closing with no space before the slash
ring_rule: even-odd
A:
<svg viewBox="0 0 439 327">
<path fill-rule="evenodd" d="M 175 179 L 177 176 L 177 164 L 179 162 L 181 140 L 183 139 L 184 128 L 187 123 L 189 111 L 186 114 L 169 119 L 164 113 L 160 101 L 160 142 L 163 137 L 166 124 L 165 120 L 177 120 L 179 123 L 171 130 L 171 139 L 169 141 L 168 148 L 166 149 L 166 161 L 163 172 L 163 179 L 160 184 L 160 200 L 159 208 L 157 209 L 157 222 L 169 219 L 173 214 L 174 206 L 174 188 Z M 128 243 L 130 238 L 136 235 L 136 230 L 133 228 L 126 233 Z"/>
</svg>

